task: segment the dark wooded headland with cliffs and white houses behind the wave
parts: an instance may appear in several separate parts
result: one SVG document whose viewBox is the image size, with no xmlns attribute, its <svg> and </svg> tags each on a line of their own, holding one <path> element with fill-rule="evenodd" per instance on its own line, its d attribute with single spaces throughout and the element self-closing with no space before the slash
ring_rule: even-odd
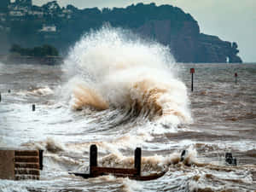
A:
<svg viewBox="0 0 256 192">
<path fill-rule="evenodd" d="M 1 41 L 24 47 L 52 44 L 65 52 L 84 32 L 108 22 L 112 26 L 131 29 L 142 38 L 153 38 L 168 45 L 179 62 L 241 62 L 236 43 L 201 33 L 191 15 L 171 5 L 138 3 L 125 9 L 100 10 L 76 9 L 72 5 L 61 9 L 56 2 L 52 2 L 28 9 L 31 11 L 23 16 L 7 15 L 5 21 L 0 20 L 0 34 L 2 32 L 8 37 L 8 41 Z M 52 31 L 45 31 L 44 26 L 53 26 Z M 9 44 L 4 44 L 4 47 L 9 48 Z"/>
</svg>

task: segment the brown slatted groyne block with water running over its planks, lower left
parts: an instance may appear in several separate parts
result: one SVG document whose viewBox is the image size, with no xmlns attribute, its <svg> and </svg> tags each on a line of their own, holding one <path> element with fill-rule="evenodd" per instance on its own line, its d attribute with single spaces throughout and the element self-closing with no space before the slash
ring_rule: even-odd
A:
<svg viewBox="0 0 256 192">
<path fill-rule="evenodd" d="M 0 149 L 0 179 L 39 179 L 43 150 Z"/>
</svg>

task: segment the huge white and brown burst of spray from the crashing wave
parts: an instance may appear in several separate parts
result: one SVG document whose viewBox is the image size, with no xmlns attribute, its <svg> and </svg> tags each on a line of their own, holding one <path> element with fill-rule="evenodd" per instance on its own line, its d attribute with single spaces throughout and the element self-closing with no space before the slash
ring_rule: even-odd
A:
<svg viewBox="0 0 256 192">
<path fill-rule="evenodd" d="M 187 90 L 171 73 L 174 62 L 168 47 L 103 26 L 84 35 L 63 65 L 73 90 L 71 105 L 121 108 L 133 116 L 165 118 L 172 124 L 189 122 Z"/>
</svg>

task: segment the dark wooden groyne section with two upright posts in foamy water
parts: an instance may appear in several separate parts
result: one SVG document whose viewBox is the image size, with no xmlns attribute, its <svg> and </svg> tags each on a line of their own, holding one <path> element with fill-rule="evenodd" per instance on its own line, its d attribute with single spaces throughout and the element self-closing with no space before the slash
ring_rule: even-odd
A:
<svg viewBox="0 0 256 192">
<path fill-rule="evenodd" d="M 70 172 L 79 177 L 90 178 L 99 177 L 103 175 L 114 175 L 115 177 L 129 177 L 140 181 L 148 181 L 162 177 L 166 172 L 158 172 L 143 176 L 141 174 L 142 164 L 142 149 L 136 148 L 134 156 L 134 168 L 115 168 L 115 167 L 102 167 L 97 165 L 97 147 L 96 145 L 90 146 L 90 172 Z"/>
</svg>

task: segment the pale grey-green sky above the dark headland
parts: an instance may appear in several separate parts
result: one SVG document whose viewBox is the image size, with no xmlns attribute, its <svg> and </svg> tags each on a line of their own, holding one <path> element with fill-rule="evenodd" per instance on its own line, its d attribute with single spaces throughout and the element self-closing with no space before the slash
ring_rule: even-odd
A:
<svg viewBox="0 0 256 192">
<path fill-rule="evenodd" d="M 42 5 L 49 0 L 32 0 Z M 198 21 L 201 32 L 236 42 L 242 61 L 256 62 L 256 0 L 57 0 L 61 7 L 79 9 L 126 7 L 131 3 L 170 4 L 183 9 Z"/>
</svg>

